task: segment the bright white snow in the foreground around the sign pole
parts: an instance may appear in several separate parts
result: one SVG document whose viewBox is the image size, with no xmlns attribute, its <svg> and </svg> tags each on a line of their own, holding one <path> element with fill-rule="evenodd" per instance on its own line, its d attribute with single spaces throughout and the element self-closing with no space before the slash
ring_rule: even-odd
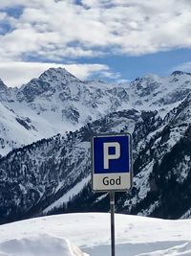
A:
<svg viewBox="0 0 191 256">
<path fill-rule="evenodd" d="M 116 255 L 191 256 L 190 230 L 190 220 L 116 215 Z M 67 214 L 0 226 L 0 256 L 82 255 L 111 255 L 109 214 Z"/>
</svg>

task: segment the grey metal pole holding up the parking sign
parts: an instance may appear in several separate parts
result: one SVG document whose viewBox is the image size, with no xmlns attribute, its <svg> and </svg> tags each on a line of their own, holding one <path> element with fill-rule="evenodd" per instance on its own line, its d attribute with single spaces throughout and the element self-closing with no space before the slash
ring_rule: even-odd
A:
<svg viewBox="0 0 191 256">
<path fill-rule="evenodd" d="M 115 252 L 115 192 L 110 192 L 110 212 L 111 212 L 111 249 L 112 256 L 116 255 Z"/>
</svg>

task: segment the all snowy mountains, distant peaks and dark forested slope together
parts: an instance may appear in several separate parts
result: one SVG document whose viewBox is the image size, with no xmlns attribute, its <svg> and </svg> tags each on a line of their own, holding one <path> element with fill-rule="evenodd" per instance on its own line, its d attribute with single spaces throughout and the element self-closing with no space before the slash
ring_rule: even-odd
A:
<svg viewBox="0 0 191 256">
<path fill-rule="evenodd" d="M 2 148 L 16 148 L 15 138 L 26 146 L 0 159 L 0 221 L 108 211 L 106 195 L 91 189 L 90 141 L 94 134 L 126 131 L 133 134 L 134 187 L 117 194 L 117 211 L 189 217 L 190 82 L 189 73 L 177 71 L 168 78 L 150 75 L 110 85 L 50 69 L 11 90 L 11 100 L 4 97 L 0 105 Z M 78 129 L 65 133 L 69 128 Z M 28 145 L 27 139 L 39 138 Z"/>
</svg>

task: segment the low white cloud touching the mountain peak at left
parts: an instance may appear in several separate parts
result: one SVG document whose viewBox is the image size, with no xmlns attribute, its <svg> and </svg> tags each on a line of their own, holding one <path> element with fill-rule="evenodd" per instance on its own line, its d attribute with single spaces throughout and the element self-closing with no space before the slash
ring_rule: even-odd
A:
<svg viewBox="0 0 191 256">
<path fill-rule="evenodd" d="M 51 67 L 66 68 L 78 79 L 86 80 L 95 73 L 104 76 L 104 72 L 110 74 L 110 69 L 102 64 L 55 64 L 38 62 L 0 62 L 0 79 L 8 86 L 20 87 L 23 83 L 37 78 Z"/>
</svg>

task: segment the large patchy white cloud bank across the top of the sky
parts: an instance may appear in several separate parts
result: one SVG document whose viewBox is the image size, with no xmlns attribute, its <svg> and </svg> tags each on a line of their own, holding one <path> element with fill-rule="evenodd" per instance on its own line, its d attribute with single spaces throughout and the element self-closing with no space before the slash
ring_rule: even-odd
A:
<svg viewBox="0 0 191 256">
<path fill-rule="evenodd" d="M 191 5 L 187 0 L 1 0 L 0 9 L 21 6 L 0 35 L 0 59 L 142 55 L 191 48 Z M 11 14 L 10 14 L 11 15 Z M 108 50 L 109 49 L 109 50 Z"/>
</svg>

